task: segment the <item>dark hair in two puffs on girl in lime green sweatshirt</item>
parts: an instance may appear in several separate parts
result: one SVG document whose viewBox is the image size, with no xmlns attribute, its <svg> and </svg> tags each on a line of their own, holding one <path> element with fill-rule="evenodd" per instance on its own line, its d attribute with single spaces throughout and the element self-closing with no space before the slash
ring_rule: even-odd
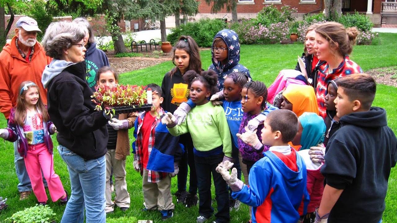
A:
<svg viewBox="0 0 397 223">
<path fill-rule="evenodd" d="M 182 76 L 183 80 L 188 83 L 189 88 L 192 85 L 193 81 L 200 81 L 204 84 L 208 91 L 211 92 L 211 95 L 218 92 L 218 74 L 213 70 L 201 71 L 201 73 L 196 73 L 194 70 L 186 71 L 186 73 Z"/>
</svg>

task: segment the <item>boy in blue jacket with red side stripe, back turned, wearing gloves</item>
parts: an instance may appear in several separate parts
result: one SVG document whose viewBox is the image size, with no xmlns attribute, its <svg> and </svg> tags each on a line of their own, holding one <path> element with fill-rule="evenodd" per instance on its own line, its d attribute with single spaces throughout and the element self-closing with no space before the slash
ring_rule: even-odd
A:
<svg viewBox="0 0 397 223">
<path fill-rule="evenodd" d="M 220 163 L 216 171 L 233 190 L 232 197 L 252 206 L 252 223 L 295 223 L 306 213 L 306 165 L 288 142 L 298 131 L 298 117 L 289 110 L 269 113 L 262 129 L 262 144 L 271 146 L 249 174 L 250 186 L 231 175 L 233 163 Z"/>
</svg>

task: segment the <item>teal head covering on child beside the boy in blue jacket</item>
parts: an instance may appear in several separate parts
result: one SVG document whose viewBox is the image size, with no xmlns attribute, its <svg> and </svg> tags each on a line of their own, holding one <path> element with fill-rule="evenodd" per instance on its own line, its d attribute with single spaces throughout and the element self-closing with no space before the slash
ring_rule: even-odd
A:
<svg viewBox="0 0 397 223">
<path fill-rule="evenodd" d="M 324 133 L 327 127 L 322 117 L 316 113 L 304 112 L 299 116 L 299 121 L 303 127 L 301 150 L 306 150 L 311 146 L 317 146 L 317 144 L 324 142 Z"/>
</svg>

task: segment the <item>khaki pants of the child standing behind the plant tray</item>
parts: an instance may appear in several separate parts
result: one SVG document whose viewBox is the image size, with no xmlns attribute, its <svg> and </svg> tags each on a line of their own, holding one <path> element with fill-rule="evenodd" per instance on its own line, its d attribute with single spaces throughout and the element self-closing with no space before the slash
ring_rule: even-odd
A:
<svg viewBox="0 0 397 223">
<path fill-rule="evenodd" d="M 116 150 L 108 150 L 105 154 L 106 158 L 106 208 L 105 212 L 113 211 L 114 205 L 120 208 L 129 208 L 131 202 L 127 191 L 127 182 L 125 182 L 125 160 L 117 160 L 115 158 Z M 114 189 L 116 190 L 116 197 L 112 201 L 112 191 L 110 190 L 110 172 L 113 167 L 114 175 Z"/>
</svg>

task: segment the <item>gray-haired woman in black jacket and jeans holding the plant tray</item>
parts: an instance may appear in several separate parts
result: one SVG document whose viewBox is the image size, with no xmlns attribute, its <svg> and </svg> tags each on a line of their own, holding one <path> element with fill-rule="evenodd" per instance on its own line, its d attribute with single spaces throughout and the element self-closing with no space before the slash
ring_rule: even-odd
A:
<svg viewBox="0 0 397 223">
<path fill-rule="evenodd" d="M 48 114 L 55 124 L 58 152 L 69 171 L 71 196 L 61 223 L 106 222 L 106 122 L 91 101 L 84 60 L 85 29 L 76 23 L 55 22 L 46 29 L 43 47 L 54 58 L 42 75 L 47 88 Z"/>
</svg>

